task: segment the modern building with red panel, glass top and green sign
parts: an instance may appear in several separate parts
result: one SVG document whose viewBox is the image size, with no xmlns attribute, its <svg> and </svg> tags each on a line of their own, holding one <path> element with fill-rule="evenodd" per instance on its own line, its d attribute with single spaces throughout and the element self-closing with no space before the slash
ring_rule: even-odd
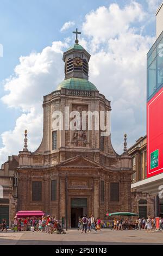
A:
<svg viewBox="0 0 163 256">
<path fill-rule="evenodd" d="M 147 53 L 147 179 L 131 188 L 155 197 L 155 215 L 163 215 L 163 3 L 156 12 L 156 41 Z M 139 176 L 139 174 L 137 174 Z M 143 176 L 143 173 L 142 173 Z M 142 177 L 143 178 L 143 177 Z"/>
</svg>

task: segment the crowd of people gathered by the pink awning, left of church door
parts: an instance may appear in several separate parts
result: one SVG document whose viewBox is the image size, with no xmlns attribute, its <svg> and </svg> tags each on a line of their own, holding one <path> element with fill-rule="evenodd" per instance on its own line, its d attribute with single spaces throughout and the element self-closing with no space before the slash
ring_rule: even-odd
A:
<svg viewBox="0 0 163 256">
<path fill-rule="evenodd" d="M 49 234 L 54 234 L 55 231 L 59 234 L 64 234 L 65 230 L 57 218 L 51 216 L 43 216 L 40 218 L 14 218 L 14 225 L 12 229 L 15 231 L 41 231 Z"/>
</svg>

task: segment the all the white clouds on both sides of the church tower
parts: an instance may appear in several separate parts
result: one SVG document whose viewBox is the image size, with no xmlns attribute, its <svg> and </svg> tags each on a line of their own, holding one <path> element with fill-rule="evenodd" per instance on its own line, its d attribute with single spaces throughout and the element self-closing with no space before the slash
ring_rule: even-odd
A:
<svg viewBox="0 0 163 256">
<path fill-rule="evenodd" d="M 118 153 L 124 133 L 128 133 L 130 144 L 146 133 L 146 54 L 154 41 L 141 34 L 146 16 L 136 2 L 123 9 L 111 4 L 91 11 L 83 23 L 80 44 L 92 54 L 90 81 L 111 100 L 112 141 Z M 140 31 L 135 24 L 140 25 Z M 62 47 L 68 47 L 69 42 L 54 42 L 41 53 L 21 57 L 15 75 L 5 81 L 7 94 L 2 100 L 9 107 L 20 108 L 22 115 L 13 131 L 2 134 L 0 161 L 22 150 L 24 129 L 29 131 L 29 150 L 39 147 L 43 95 L 55 90 L 64 77 Z"/>
</svg>

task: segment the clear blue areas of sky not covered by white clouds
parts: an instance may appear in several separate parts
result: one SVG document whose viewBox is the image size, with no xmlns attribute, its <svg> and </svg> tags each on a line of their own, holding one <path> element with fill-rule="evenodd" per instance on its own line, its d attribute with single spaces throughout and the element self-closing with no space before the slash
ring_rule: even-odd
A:
<svg viewBox="0 0 163 256">
<path fill-rule="evenodd" d="M 151 19 L 144 19 L 142 22 L 135 20 L 132 26 L 140 34 L 145 24 L 141 34 L 155 36 L 155 10 L 150 9 L 148 1 L 136 2 L 140 3 L 142 9 L 150 14 Z M 156 2 L 159 5 L 161 1 L 153 0 L 153 3 Z M 131 1 L 0 0 L 0 44 L 4 49 L 3 57 L 0 58 L 0 98 L 7 94 L 4 91 L 4 80 L 14 75 L 14 69 L 20 63 L 21 56 L 29 56 L 31 52 L 41 52 L 43 48 L 51 46 L 53 41 L 64 41 L 68 36 L 72 36 L 73 29 L 76 27 L 79 30 L 82 29 L 85 15 L 102 6 L 108 8 L 112 3 L 118 4 L 123 9 Z M 67 21 L 73 21 L 75 25 L 60 32 L 61 27 Z M 11 108 L 0 101 L 0 135 L 5 131 L 12 131 L 21 114 L 20 107 Z M 0 138 L 1 147 L 3 147 L 2 138 Z"/>
</svg>

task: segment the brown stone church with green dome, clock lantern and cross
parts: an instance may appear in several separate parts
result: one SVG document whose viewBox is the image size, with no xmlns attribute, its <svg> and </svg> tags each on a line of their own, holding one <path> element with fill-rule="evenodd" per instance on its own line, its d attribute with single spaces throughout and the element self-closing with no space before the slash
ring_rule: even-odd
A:
<svg viewBox="0 0 163 256">
<path fill-rule="evenodd" d="M 78 39 L 64 53 L 65 80 L 43 98 L 43 138 L 33 153 L 28 150 L 25 131 L 24 149 L 14 157 L 18 178 L 15 212 L 42 210 L 68 227 L 76 227 L 84 214 L 104 219 L 108 212 L 131 211 L 133 170 L 126 135 L 124 153 L 118 155 L 111 135 L 102 137 L 101 129 L 65 129 L 65 107 L 79 113 L 111 112 L 110 101 L 89 81 L 90 57 Z M 64 129 L 54 129 L 54 112 L 63 113 Z"/>
</svg>

